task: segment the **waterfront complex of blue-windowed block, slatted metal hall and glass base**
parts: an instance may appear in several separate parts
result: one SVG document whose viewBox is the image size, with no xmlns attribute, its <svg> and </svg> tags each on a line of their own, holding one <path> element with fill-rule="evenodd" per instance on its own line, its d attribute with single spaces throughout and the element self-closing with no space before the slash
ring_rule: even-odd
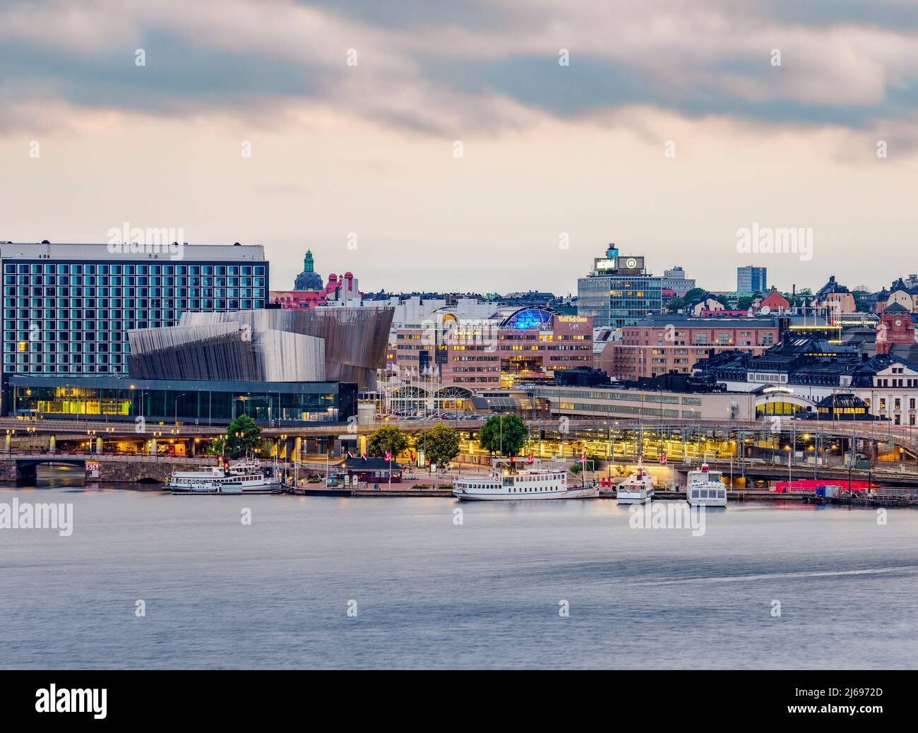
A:
<svg viewBox="0 0 918 733">
<path fill-rule="evenodd" d="M 181 255 L 0 243 L 2 413 L 202 427 L 356 414 L 391 309 L 274 309 L 262 245 L 185 244 Z"/>
</svg>

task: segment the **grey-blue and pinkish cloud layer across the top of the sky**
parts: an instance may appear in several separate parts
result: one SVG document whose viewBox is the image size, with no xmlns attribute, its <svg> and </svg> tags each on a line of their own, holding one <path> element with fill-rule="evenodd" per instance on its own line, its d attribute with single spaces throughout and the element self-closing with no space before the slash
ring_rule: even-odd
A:
<svg viewBox="0 0 918 733">
<path fill-rule="evenodd" d="M 869 13 L 849 0 L 46 0 L 0 8 L 0 66 L 0 132 L 41 105 L 277 123 L 319 106 L 455 137 L 642 105 L 868 129 L 916 114 L 918 12 L 904 0 Z"/>
</svg>

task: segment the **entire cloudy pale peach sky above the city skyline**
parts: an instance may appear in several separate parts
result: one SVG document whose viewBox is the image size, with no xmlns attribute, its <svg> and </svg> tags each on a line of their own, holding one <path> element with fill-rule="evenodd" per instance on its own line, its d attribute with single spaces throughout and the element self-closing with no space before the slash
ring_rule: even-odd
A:
<svg viewBox="0 0 918 733">
<path fill-rule="evenodd" d="M 0 0 L 0 104 L 0 240 L 263 243 L 272 288 L 918 272 L 914 0 Z"/>
</svg>

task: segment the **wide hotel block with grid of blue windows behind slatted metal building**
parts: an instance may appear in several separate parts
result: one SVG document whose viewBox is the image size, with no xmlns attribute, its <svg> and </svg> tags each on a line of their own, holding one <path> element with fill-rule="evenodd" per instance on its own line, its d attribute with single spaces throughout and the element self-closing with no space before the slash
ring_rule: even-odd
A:
<svg viewBox="0 0 918 733">
<path fill-rule="evenodd" d="M 128 332 L 264 308 L 262 245 L 0 242 L 3 373 L 128 372 Z"/>
</svg>

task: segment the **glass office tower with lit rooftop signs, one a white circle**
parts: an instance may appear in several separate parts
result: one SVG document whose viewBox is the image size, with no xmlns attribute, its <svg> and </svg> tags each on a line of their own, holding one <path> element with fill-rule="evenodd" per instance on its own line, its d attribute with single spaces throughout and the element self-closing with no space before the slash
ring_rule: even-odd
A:
<svg viewBox="0 0 918 733">
<path fill-rule="evenodd" d="M 610 244 L 590 274 L 577 279 L 577 315 L 592 317 L 594 326 L 621 329 L 661 312 L 662 290 L 663 278 L 647 274 L 644 257 L 621 256 Z"/>
</svg>

